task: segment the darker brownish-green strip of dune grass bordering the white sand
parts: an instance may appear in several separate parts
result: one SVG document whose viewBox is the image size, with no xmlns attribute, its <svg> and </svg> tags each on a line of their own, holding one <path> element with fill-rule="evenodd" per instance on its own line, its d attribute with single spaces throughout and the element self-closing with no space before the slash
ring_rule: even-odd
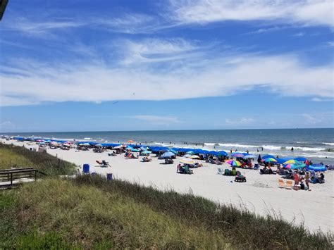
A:
<svg viewBox="0 0 334 250">
<path fill-rule="evenodd" d="M 106 192 L 147 204 L 188 225 L 218 230 L 222 237 L 242 249 L 331 249 L 333 235 L 311 233 L 303 225 L 292 225 L 279 215 L 259 216 L 232 205 L 220 205 L 192 194 L 161 192 L 122 180 L 106 181 L 104 177 L 80 175 L 81 185 L 94 185 Z"/>
</svg>

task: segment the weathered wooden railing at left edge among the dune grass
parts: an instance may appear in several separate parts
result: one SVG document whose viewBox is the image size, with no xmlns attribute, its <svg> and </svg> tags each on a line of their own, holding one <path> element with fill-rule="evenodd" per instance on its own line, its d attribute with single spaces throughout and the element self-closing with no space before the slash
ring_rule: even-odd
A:
<svg viewBox="0 0 334 250">
<path fill-rule="evenodd" d="M 0 170 L 0 186 L 13 186 L 17 180 L 37 180 L 37 175 L 46 175 L 35 168 L 13 168 Z"/>
</svg>

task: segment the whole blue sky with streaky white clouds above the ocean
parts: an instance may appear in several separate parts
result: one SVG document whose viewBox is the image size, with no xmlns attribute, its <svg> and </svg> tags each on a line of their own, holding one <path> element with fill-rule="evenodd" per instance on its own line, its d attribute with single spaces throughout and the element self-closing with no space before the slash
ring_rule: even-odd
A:
<svg viewBox="0 0 334 250">
<path fill-rule="evenodd" d="M 10 1 L 0 132 L 333 127 L 332 1 Z"/>
</svg>

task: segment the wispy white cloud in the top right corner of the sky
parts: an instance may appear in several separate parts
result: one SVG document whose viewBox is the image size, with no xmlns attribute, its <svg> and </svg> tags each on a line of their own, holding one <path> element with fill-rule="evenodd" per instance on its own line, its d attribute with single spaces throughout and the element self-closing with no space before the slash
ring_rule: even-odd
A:
<svg viewBox="0 0 334 250">
<path fill-rule="evenodd" d="M 171 0 L 171 12 L 180 23 L 269 20 L 275 23 L 334 26 L 332 0 Z"/>
</svg>

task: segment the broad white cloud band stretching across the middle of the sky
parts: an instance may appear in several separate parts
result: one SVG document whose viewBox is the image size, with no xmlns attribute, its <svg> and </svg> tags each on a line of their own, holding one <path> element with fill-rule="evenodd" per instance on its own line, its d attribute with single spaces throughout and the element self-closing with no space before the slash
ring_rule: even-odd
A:
<svg viewBox="0 0 334 250">
<path fill-rule="evenodd" d="M 173 54 L 189 47 L 165 45 L 153 51 L 168 55 L 170 51 Z M 0 104 L 187 99 L 228 96 L 257 87 L 267 87 L 283 96 L 334 96 L 332 65 L 309 67 L 293 55 L 216 54 L 214 57 L 174 60 L 162 69 L 151 62 L 111 66 L 94 60 L 54 65 L 17 61 L 15 65 L 0 68 Z M 175 63 L 178 67 L 172 66 Z"/>
</svg>

